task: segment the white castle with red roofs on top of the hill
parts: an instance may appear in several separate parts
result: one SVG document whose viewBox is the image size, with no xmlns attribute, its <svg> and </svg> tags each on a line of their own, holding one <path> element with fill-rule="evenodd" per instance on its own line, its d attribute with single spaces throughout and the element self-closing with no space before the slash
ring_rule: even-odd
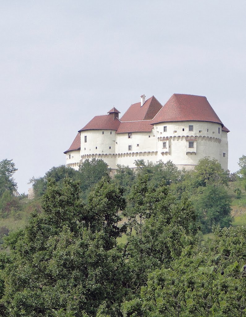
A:
<svg viewBox="0 0 246 317">
<path fill-rule="evenodd" d="M 84 159 L 103 159 L 112 169 L 117 165 L 136 167 L 143 159 L 156 163 L 171 160 L 178 168 L 192 169 L 206 156 L 228 165 L 227 133 L 204 96 L 173 94 L 162 106 L 152 96 L 132 104 L 119 119 L 113 107 L 95 116 L 79 130 L 66 154 L 66 165 L 79 168 Z"/>
</svg>

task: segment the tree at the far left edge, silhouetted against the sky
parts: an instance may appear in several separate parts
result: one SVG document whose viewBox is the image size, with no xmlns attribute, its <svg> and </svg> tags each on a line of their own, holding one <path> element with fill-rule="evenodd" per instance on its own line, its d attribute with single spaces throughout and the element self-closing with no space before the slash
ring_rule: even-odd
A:
<svg viewBox="0 0 246 317">
<path fill-rule="evenodd" d="M 13 192 L 14 187 L 17 185 L 13 175 L 17 171 L 13 160 L 4 159 L 0 161 L 0 197 L 4 191 Z"/>
</svg>

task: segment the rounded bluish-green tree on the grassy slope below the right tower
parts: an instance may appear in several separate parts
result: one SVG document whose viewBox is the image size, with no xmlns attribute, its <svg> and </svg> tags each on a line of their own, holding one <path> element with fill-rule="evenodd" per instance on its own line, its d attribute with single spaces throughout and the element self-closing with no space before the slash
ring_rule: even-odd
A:
<svg viewBox="0 0 246 317">
<path fill-rule="evenodd" d="M 214 225 L 229 227 L 232 223 L 231 199 L 222 186 L 207 185 L 194 204 L 198 220 L 202 224 L 203 232 L 211 232 Z"/>
</svg>

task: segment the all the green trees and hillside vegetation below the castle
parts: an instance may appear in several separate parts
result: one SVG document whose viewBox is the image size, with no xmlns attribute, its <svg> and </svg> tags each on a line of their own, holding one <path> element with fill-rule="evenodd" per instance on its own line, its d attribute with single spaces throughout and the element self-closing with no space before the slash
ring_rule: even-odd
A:
<svg viewBox="0 0 246 317">
<path fill-rule="evenodd" d="M 33 201 L 0 164 L 1 316 L 246 316 L 246 157 L 135 164 L 54 167 Z"/>
</svg>

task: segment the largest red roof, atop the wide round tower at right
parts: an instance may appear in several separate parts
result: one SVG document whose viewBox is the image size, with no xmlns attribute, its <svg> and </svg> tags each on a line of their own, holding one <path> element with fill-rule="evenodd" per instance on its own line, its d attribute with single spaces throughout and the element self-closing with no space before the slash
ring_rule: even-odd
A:
<svg viewBox="0 0 246 317">
<path fill-rule="evenodd" d="M 223 123 L 204 96 L 173 94 L 153 119 L 153 123 L 169 121 L 209 121 Z"/>
</svg>

